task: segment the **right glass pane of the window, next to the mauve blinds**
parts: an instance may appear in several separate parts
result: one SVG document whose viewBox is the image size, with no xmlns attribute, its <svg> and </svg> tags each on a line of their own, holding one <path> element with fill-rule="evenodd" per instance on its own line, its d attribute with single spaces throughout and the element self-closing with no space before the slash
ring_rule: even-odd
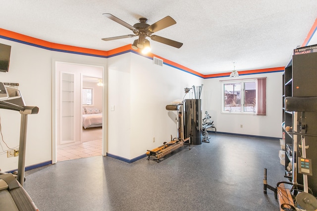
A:
<svg viewBox="0 0 317 211">
<path fill-rule="evenodd" d="M 244 83 L 244 112 L 256 112 L 256 82 Z"/>
</svg>

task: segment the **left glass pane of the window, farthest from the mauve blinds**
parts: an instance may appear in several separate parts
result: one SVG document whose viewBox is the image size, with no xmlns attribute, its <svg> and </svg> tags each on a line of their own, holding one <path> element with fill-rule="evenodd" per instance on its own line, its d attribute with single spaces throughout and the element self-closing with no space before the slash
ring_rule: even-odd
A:
<svg viewBox="0 0 317 211">
<path fill-rule="evenodd" d="M 224 84 L 224 112 L 241 112 L 241 83 Z"/>
</svg>

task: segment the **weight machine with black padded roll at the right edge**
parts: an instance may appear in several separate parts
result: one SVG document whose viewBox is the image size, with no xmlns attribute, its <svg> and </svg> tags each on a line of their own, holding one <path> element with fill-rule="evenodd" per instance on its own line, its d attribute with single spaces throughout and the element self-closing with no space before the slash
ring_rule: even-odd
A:
<svg viewBox="0 0 317 211">
<path fill-rule="evenodd" d="M 264 194 L 266 194 L 267 188 L 272 190 L 275 199 L 278 198 L 281 211 L 298 211 L 301 209 L 317 211 L 317 199 L 308 184 L 308 175 L 313 175 L 312 159 L 306 157 L 306 150 L 309 149 L 309 145 L 306 144 L 306 137 L 317 137 L 317 134 L 307 133 L 308 124 L 305 116 L 305 112 L 317 112 L 317 97 L 286 97 L 285 110 L 295 112 L 293 125 L 297 126 L 297 131 L 293 130 L 292 127 L 285 127 L 285 130 L 293 135 L 292 182 L 280 181 L 276 184 L 276 187 L 272 187 L 267 184 L 266 169 L 264 169 Z M 298 114 L 301 115 L 300 118 L 297 118 Z M 298 135 L 301 137 L 301 144 L 297 143 Z M 299 152 L 301 156 L 297 155 L 297 147 L 302 149 L 302 152 Z M 298 183 L 297 172 L 303 174 L 303 184 Z M 316 186 L 316 184 L 314 185 Z M 286 186 L 291 186 L 291 188 L 287 189 Z"/>
</svg>

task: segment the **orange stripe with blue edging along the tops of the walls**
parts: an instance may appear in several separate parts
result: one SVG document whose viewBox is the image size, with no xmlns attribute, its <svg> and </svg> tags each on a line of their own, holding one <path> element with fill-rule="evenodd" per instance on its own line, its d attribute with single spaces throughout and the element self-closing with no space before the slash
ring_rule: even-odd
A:
<svg viewBox="0 0 317 211">
<path fill-rule="evenodd" d="M 315 25 L 317 25 L 317 22 L 315 22 Z M 316 28 L 316 26 L 315 26 L 315 28 Z M 23 44 L 27 44 L 27 45 L 32 45 L 35 47 L 40 47 L 40 48 L 44 48 L 44 49 L 48 49 L 48 50 L 52 50 L 52 51 L 74 53 L 74 54 L 88 55 L 88 56 L 95 56 L 95 57 L 102 57 L 102 58 L 109 58 L 109 57 L 117 56 L 120 54 L 132 52 L 132 53 L 136 53 L 140 56 L 144 56 L 144 57 L 152 59 L 152 60 L 153 60 L 153 56 L 155 56 L 159 59 L 162 59 L 163 64 L 165 64 L 165 65 L 168 65 L 170 67 L 176 68 L 178 70 L 184 71 L 186 73 L 195 75 L 195 76 L 203 78 L 203 79 L 229 77 L 230 76 L 230 73 L 203 75 L 201 73 L 198 73 L 197 71 L 194 71 L 192 69 L 184 67 L 180 64 L 177 64 L 175 62 L 167 60 L 167 59 L 160 57 L 158 55 L 155 55 L 153 53 L 149 53 L 148 55 L 144 55 L 140 52 L 140 50 L 132 49 L 131 48 L 132 44 L 128 44 L 128 45 L 118 47 L 118 48 L 108 50 L 108 51 L 95 50 L 95 49 L 90 49 L 90 48 L 83 48 L 83 47 L 76 47 L 76 46 L 71 46 L 71 45 L 48 42 L 48 41 L 29 37 L 26 35 L 22 35 L 22 34 L 15 33 L 12 31 L 5 30 L 5 29 L 1 29 L 1 28 L 0 28 L 0 38 L 5 39 L 5 40 L 10 40 L 13 42 L 19 42 L 19 43 L 23 43 Z M 239 74 L 240 75 L 252 75 L 252 74 L 261 74 L 261 73 L 282 72 L 282 71 L 284 71 L 284 67 L 261 69 L 261 70 L 241 71 Z"/>
</svg>

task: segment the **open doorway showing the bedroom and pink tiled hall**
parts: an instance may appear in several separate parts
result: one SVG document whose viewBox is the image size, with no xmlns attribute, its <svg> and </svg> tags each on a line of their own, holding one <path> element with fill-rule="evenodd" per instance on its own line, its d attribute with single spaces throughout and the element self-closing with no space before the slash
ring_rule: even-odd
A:
<svg viewBox="0 0 317 211">
<path fill-rule="evenodd" d="M 101 66 L 55 63 L 56 162 L 103 155 L 103 73 Z M 84 125 L 84 113 L 99 122 Z"/>
</svg>

